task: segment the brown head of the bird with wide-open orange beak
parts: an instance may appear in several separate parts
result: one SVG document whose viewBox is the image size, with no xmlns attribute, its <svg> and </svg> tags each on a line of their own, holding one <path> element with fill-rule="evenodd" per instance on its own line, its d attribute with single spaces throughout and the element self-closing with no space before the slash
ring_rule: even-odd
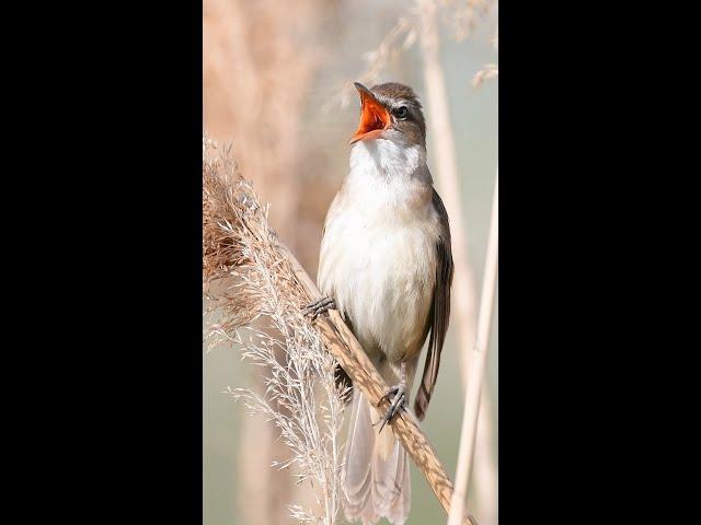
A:
<svg viewBox="0 0 701 525">
<path fill-rule="evenodd" d="M 360 124 L 349 144 L 390 140 L 404 147 L 426 148 L 426 124 L 414 90 L 397 82 L 369 90 L 359 82 L 354 85 L 360 95 Z"/>
</svg>

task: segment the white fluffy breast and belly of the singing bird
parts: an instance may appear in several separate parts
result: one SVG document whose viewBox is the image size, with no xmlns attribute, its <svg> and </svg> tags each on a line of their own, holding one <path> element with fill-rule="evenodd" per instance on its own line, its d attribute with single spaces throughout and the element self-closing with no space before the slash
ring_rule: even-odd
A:
<svg viewBox="0 0 701 525">
<path fill-rule="evenodd" d="M 439 230 L 430 184 L 411 175 L 412 164 L 425 160 L 389 141 L 371 144 L 381 142 L 387 148 L 354 148 L 350 174 L 326 218 L 319 288 L 350 317 L 371 357 L 399 360 L 421 350 Z"/>
</svg>

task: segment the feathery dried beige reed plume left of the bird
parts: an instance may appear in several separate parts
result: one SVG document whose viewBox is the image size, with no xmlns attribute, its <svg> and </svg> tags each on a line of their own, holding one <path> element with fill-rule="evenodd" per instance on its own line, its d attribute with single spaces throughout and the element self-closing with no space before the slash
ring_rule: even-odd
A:
<svg viewBox="0 0 701 525">
<path fill-rule="evenodd" d="M 233 345 L 244 361 L 261 366 L 264 394 L 227 392 L 279 431 L 290 455 L 272 466 L 290 469 L 314 491 L 318 508 L 290 503 L 290 516 L 334 524 L 342 495 L 345 390 L 334 381 L 336 360 L 301 313 L 310 298 L 280 256 L 267 212 L 239 174 L 230 147 L 219 150 L 204 138 L 203 293 L 210 320 L 205 342 Z"/>
</svg>

